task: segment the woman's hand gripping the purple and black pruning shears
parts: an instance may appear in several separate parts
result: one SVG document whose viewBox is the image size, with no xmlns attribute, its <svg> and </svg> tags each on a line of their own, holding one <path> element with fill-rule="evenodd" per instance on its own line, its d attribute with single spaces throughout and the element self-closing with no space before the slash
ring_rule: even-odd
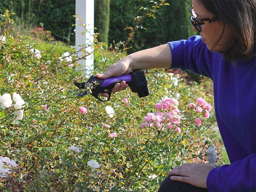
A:
<svg viewBox="0 0 256 192">
<path fill-rule="evenodd" d="M 131 58 L 130 56 L 126 56 L 125 58 L 119 60 L 118 62 L 111 65 L 103 74 L 97 74 L 96 76 L 99 79 L 106 79 L 112 76 L 120 76 L 124 74 L 131 73 Z M 117 83 L 115 87 L 112 89 L 112 92 L 118 92 L 121 90 L 125 90 L 128 87 L 128 85 L 125 83 L 125 81 L 122 81 L 121 83 Z M 102 96 L 108 97 L 107 93 L 102 93 Z"/>
</svg>

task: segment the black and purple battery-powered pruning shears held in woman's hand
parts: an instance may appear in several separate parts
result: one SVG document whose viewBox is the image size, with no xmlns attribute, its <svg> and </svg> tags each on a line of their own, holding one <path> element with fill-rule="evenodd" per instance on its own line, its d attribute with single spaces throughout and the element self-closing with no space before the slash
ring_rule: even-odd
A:
<svg viewBox="0 0 256 192">
<path fill-rule="evenodd" d="M 92 96 L 96 97 L 100 101 L 109 101 L 111 96 L 111 91 L 114 86 L 119 82 L 125 81 L 126 84 L 131 88 L 133 93 L 138 93 L 139 97 L 144 97 L 149 95 L 149 89 L 147 86 L 147 81 L 145 78 L 144 71 L 136 70 L 132 71 L 128 75 L 121 75 L 118 77 L 110 77 L 107 79 L 99 79 L 97 76 L 92 75 L 87 82 L 74 82 L 76 87 L 79 89 L 85 89 L 81 94 L 76 94 L 77 96 L 85 96 L 90 93 Z M 107 89 L 109 91 L 107 91 Z M 109 95 L 107 100 L 103 100 L 98 97 L 100 93 L 107 93 Z"/>
</svg>

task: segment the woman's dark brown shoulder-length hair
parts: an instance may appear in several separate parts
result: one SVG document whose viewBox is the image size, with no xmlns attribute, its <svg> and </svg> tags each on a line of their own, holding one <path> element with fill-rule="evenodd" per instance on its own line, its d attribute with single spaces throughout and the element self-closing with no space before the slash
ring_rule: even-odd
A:
<svg viewBox="0 0 256 192">
<path fill-rule="evenodd" d="M 249 60 L 256 55 L 256 0 L 198 0 L 211 14 L 227 25 L 234 37 L 218 51 L 231 61 Z M 221 37 L 220 37 L 221 39 Z M 215 42 L 214 46 L 220 41 Z"/>
</svg>

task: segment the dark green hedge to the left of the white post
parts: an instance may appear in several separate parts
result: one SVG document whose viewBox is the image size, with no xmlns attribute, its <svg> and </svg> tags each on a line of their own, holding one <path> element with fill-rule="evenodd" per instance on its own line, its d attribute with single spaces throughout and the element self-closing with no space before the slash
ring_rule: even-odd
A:
<svg viewBox="0 0 256 192">
<path fill-rule="evenodd" d="M 40 26 L 52 32 L 58 41 L 75 44 L 72 34 L 75 26 L 75 0 L 1 0 L 0 12 L 9 9 L 15 13 L 14 21 L 25 28 Z"/>
</svg>

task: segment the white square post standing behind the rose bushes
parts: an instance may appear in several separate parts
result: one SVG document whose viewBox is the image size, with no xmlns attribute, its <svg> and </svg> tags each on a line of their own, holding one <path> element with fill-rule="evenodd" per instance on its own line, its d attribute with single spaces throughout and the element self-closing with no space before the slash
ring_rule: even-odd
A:
<svg viewBox="0 0 256 192">
<path fill-rule="evenodd" d="M 78 20 L 80 19 L 80 21 Z M 85 31 L 85 27 L 81 26 L 81 21 L 86 25 L 87 33 L 82 33 Z M 80 63 L 77 70 L 82 70 L 83 74 L 90 75 L 90 71 L 93 69 L 93 34 L 94 34 L 94 0 L 76 0 L 76 51 L 79 51 L 82 47 L 80 45 L 86 44 L 85 48 L 87 53 L 91 53 L 86 56 L 86 59 L 78 61 Z M 78 57 L 85 55 L 82 51 L 78 52 Z"/>
</svg>

